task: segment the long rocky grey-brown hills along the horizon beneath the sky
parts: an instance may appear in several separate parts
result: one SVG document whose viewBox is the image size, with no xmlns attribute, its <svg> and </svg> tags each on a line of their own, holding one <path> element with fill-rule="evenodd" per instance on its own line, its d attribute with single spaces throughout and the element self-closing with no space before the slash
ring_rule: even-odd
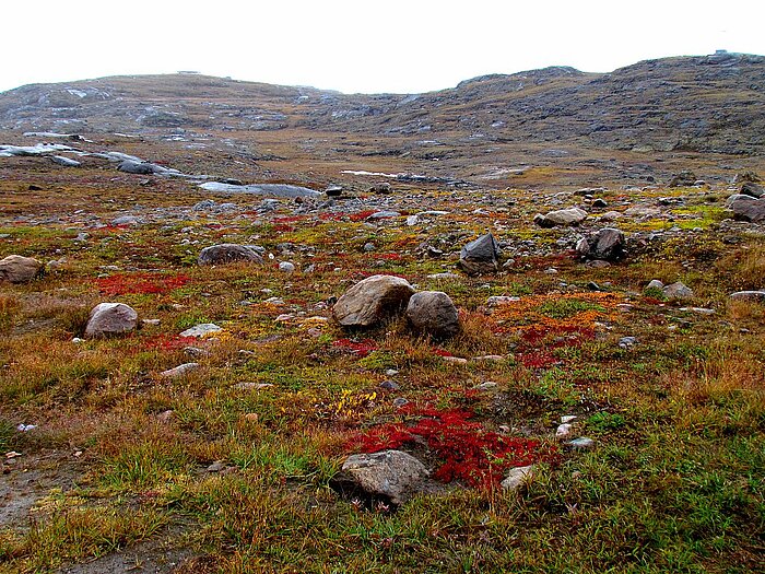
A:
<svg viewBox="0 0 765 574">
<path fill-rule="evenodd" d="M 765 57 L 666 58 L 607 74 L 554 67 L 413 95 L 192 74 L 105 78 L 2 93 L 0 128 L 144 134 L 294 128 L 443 144 L 753 154 L 765 147 Z"/>
</svg>

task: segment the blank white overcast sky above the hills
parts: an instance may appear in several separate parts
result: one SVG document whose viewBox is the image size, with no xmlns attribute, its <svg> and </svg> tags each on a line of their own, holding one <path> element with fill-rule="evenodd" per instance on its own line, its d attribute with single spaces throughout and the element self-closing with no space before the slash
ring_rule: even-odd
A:
<svg viewBox="0 0 765 574">
<path fill-rule="evenodd" d="M 0 91 L 198 70 L 416 93 L 545 66 L 765 54 L 765 0 L 1 0 Z"/>
</svg>

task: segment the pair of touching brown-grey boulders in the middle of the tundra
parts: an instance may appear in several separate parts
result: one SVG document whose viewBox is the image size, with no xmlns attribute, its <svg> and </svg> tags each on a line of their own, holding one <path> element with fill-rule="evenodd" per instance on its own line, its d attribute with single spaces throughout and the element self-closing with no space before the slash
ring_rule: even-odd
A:
<svg viewBox="0 0 765 574">
<path fill-rule="evenodd" d="M 447 339 L 460 330 L 457 307 L 446 293 L 415 293 L 409 281 L 395 276 L 360 281 L 332 308 L 334 319 L 346 328 L 374 327 L 402 313 L 415 332 L 434 339 Z"/>
</svg>

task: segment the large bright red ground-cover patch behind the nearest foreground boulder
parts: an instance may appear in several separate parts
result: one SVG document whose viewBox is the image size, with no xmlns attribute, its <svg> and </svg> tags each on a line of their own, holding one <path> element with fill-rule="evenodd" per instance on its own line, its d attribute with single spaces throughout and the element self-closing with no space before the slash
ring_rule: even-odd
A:
<svg viewBox="0 0 765 574">
<path fill-rule="evenodd" d="M 458 480 L 478 488 L 493 489 L 510 468 L 541 460 L 554 461 L 554 448 L 539 441 L 506 436 L 487 431 L 471 420 L 464 409 L 410 409 L 419 420 L 413 425 L 384 424 L 355 437 L 349 446 L 376 453 L 404 445 L 425 444 L 442 460 L 433 478 L 440 482 Z"/>
</svg>

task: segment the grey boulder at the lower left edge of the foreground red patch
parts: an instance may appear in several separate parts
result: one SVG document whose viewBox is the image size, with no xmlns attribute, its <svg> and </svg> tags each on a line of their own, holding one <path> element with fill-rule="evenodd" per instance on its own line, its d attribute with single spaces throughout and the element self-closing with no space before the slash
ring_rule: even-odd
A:
<svg viewBox="0 0 765 574">
<path fill-rule="evenodd" d="M 338 490 L 362 492 L 372 499 L 385 499 L 399 505 L 411 499 L 427 479 L 425 466 L 402 450 L 352 455 L 333 478 Z"/>
</svg>

